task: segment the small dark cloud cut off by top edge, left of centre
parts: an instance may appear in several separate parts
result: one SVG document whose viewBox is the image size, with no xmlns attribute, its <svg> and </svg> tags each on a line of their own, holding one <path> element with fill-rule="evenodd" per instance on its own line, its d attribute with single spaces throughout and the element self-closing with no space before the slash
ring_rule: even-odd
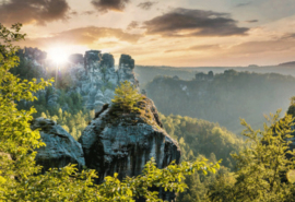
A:
<svg viewBox="0 0 295 202">
<path fill-rule="evenodd" d="M 102 13 L 123 11 L 130 0 L 92 0 L 91 3 Z"/>
</svg>

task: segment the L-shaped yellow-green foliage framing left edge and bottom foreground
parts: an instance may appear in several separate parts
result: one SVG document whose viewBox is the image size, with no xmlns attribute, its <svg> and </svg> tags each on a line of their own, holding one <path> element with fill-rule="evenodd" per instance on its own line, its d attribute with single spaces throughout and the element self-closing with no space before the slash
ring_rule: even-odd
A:
<svg viewBox="0 0 295 202">
<path fill-rule="evenodd" d="M 37 130 L 30 128 L 34 108 L 17 110 L 14 100 L 34 100 L 33 93 L 50 85 L 49 81 L 27 81 L 17 79 L 9 70 L 17 64 L 17 47 L 12 43 L 24 38 L 20 34 L 21 24 L 12 31 L 0 25 L 0 201 L 133 201 L 143 197 L 150 201 L 162 201 L 151 187 L 184 191 L 184 175 L 196 170 L 214 173 L 219 165 L 204 161 L 172 164 L 157 169 L 154 159 L 150 161 L 143 174 L 127 177 L 120 181 L 117 174 L 106 177 L 102 185 L 94 185 L 97 177 L 94 170 L 78 173 L 74 165 L 40 173 L 35 165 L 35 148 L 45 146 Z"/>
</svg>

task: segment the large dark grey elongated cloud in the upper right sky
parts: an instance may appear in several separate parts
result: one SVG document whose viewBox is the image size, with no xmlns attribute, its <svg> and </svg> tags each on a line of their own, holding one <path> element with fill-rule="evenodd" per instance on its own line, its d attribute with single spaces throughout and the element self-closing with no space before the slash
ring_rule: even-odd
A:
<svg viewBox="0 0 295 202">
<path fill-rule="evenodd" d="M 238 27 L 228 13 L 175 9 L 143 23 L 148 35 L 164 37 L 246 35 L 249 28 Z"/>
</svg>

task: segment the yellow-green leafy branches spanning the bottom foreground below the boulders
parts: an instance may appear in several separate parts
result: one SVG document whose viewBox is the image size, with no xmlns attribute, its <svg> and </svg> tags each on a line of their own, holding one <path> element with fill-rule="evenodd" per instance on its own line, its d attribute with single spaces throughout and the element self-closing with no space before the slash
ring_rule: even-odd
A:
<svg viewBox="0 0 295 202">
<path fill-rule="evenodd" d="M 148 188 L 162 187 L 164 190 L 181 192 L 186 189 L 184 175 L 191 175 L 206 167 L 214 173 L 217 165 L 204 162 L 172 164 L 167 168 L 158 169 L 155 161 L 146 163 L 143 174 L 137 177 L 127 177 L 120 181 L 114 177 L 106 177 L 102 185 L 93 185 L 92 178 L 97 177 L 94 170 L 76 173 L 71 165 L 61 169 L 50 169 L 45 175 L 31 176 L 24 183 L 17 183 L 13 190 L 4 190 L 0 197 L 10 201 L 97 201 L 97 202 L 131 202 L 134 198 L 143 197 L 148 201 L 158 201 L 157 192 Z M 3 193 L 3 194 L 1 194 Z M 1 198 L 0 198 L 1 199 Z"/>
</svg>

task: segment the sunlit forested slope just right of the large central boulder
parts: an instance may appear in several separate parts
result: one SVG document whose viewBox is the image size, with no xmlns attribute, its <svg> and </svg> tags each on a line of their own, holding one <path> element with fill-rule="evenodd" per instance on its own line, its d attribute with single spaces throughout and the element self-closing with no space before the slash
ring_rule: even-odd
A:
<svg viewBox="0 0 295 202">
<path fill-rule="evenodd" d="M 178 140 L 184 161 L 196 159 L 198 155 L 215 156 L 215 161 L 223 159 L 224 166 L 233 168 L 231 153 L 244 146 L 244 141 L 236 134 L 202 119 L 174 115 L 160 115 L 160 118 L 167 133 Z"/>
</svg>

